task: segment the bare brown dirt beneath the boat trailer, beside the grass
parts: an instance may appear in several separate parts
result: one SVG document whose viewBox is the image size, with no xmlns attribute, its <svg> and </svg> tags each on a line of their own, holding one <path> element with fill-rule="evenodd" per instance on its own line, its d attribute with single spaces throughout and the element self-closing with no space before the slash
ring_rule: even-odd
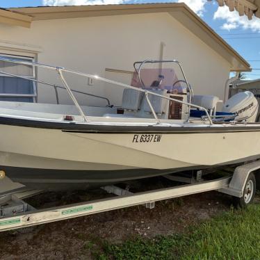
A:
<svg viewBox="0 0 260 260">
<path fill-rule="evenodd" d="M 30 199 L 44 206 L 97 199 L 104 193 L 46 193 Z M 33 204 L 33 203 L 32 203 Z M 217 192 L 200 193 L 156 202 L 154 209 L 133 206 L 92 216 L 63 220 L 0 234 L 0 259 L 91 259 L 102 241 L 120 243 L 136 236 L 181 233 L 229 209 L 231 197 Z"/>
</svg>

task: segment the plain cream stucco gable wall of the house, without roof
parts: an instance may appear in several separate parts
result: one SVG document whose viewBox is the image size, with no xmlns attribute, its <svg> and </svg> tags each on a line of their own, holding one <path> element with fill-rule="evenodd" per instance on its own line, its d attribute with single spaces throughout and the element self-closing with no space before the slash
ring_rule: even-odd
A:
<svg viewBox="0 0 260 260">
<path fill-rule="evenodd" d="M 229 63 L 168 13 L 37 21 L 32 23 L 31 29 L 0 24 L 0 31 L 0 40 L 41 47 L 40 63 L 111 79 L 129 80 L 126 75 L 105 72 L 106 68 L 133 71 L 136 60 L 158 59 L 161 42 L 165 42 L 163 58 L 176 58 L 183 64 L 195 94 L 217 95 L 222 99 L 225 81 L 229 78 Z M 0 42 L 0 53 L 5 52 Z M 58 82 L 54 72 L 48 75 L 46 70 L 39 70 L 38 77 Z M 77 90 L 108 95 L 113 103 L 120 104 L 118 97 L 122 90 L 114 92 L 115 88 L 97 82 L 88 86 L 87 79 L 73 78 L 70 82 Z M 38 97 L 40 102 L 56 102 L 51 88 L 39 86 Z M 60 101 L 67 103 L 68 100 L 63 92 Z M 104 104 L 99 99 L 88 101 Z M 86 99 L 81 99 L 82 103 L 86 104 Z"/>
</svg>

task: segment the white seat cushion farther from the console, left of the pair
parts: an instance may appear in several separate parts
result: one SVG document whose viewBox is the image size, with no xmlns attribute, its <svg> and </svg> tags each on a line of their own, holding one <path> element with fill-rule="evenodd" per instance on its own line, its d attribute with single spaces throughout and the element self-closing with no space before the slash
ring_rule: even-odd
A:
<svg viewBox="0 0 260 260">
<path fill-rule="evenodd" d="M 122 108 L 130 111 L 138 111 L 140 103 L 143 99 L 143 92 L 133 90 L 131 88 L 124 88 L 122 97 Z"/>
</svg>

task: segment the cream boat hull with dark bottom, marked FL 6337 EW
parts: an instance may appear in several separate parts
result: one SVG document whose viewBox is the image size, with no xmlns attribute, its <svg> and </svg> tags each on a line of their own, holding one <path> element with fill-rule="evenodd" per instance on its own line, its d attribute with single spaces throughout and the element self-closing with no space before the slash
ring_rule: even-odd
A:
<svg viewBox="0 0 260 260">
<path fill-rule="evenodd" d="M 38 188 L 88 188 L 260 157 L 260 127 L 250 125 L 139 130 L 114 125 L 105 131 L 99 125 L 83 130 L 64 123 L 64 129 L 26 124 L 0 124 L 0 170 Z"/>
</svg>

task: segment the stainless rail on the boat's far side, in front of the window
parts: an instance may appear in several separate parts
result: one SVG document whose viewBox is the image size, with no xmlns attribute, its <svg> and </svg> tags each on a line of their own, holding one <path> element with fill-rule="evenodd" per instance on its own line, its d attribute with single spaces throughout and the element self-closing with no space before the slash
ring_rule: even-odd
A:
<svg viewBox="0 0 260 260">
<path fill-rule="evenodd" d="M 33 81 L 33 82 L 37 82 L 37 83 L 42 83 L 44 85 L 47 85 L 47 86 L 51 86 L 51 87 L 54 87 L 54 90 L 55 90 L 55 94 L 56 94 L 56 101 L 57 101 L 57 104 L 59 104 L 59 100 L 58 100 L 58 91 L 57 91 L 57 88 L 61 88 L 63 90 L 65 90 L 66 88 L 62 87 L 62 86 L 58 86 L 56 84 L 53 84 L 53 83 L 49 83 L 49 82 L 46 82 L 46 81 L 40 81 L 38 79 L 29 79 L 29 78 L 26 78 L 26 76 L 19 76 L 19 75 L 16 75 L 16 74 L 12 74 L 12 73 L 8 73 L 8 72 L 2 72 L 0 70 L 0 74 L 5 74 L 5 75 L 8 75 L 8 76 L 15 76 L 19 79 L 26 79 L 26 80 L 29 80 L 29 81 Z M 108 105 L 107 106 L 111 106 L 111 103 L 110 103 L 110 100 L 106 97 L 101 97 L 101 96 L 97 96 L 97 95 L 94 95 L 94 94 L 90 94 L 90 93 L 87 93 L 87 92 L 83 92 L 83 91 L 79 91 L 79 90 L 74 90 L 72 89 L 72 92 L 75 92 L 75 93 L 79 93 L 79 94 L 83 94 L 83 95 L 87 95 L 87 96 L 90 96 L 90 97 L 97 97 L 99 99 L 104 99 L 108 102 Z M 10 94 L 8 95 L 5 95 L 5 97 L 8 97 Z M 26 96 L 29 96 L 29 95 L 26 95 Z M 2 94 L 0 94 L 0 97 L 2 97 Z M 31 95 L 30 95 L 31 97 Z M 33 95 L 34 97 L 34 95 Z"/>
</svg>

